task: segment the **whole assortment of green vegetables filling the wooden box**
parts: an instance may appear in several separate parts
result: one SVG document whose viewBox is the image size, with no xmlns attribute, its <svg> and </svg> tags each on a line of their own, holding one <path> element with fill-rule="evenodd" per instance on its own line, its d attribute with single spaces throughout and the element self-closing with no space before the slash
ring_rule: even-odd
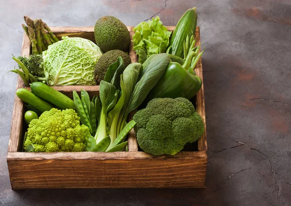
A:
<svg viewBox="0 0 291 206">
<path fill-rule="evenodd" d="M 129 31 L 116 17 L 97 20 L 97 44 L 68 36 L 56 41 L 40 19 L 25 20 L 32 55 L 13 57 L 19 69 L 12 70 L 31 88 L 16 91 L 27 110 L 24 151 L 128 151 L 126 137 L 134 129 L 146 153 L 175 155 L 204 133 L 189 101 L 202 86 L 195 74 L 203 54 L 196 43 L 195 8 L 185 12 L 173 34 L 159 17 L 134 27 L 138 63 L 131 63 Z M 99 90 L 92 90 L 96 84 Z M 68 85 L 93 87 L 75 87 L 72 94 L 51 87 Z M 129 113 L 135 113 L 133 120 Z"/>
</svg>

